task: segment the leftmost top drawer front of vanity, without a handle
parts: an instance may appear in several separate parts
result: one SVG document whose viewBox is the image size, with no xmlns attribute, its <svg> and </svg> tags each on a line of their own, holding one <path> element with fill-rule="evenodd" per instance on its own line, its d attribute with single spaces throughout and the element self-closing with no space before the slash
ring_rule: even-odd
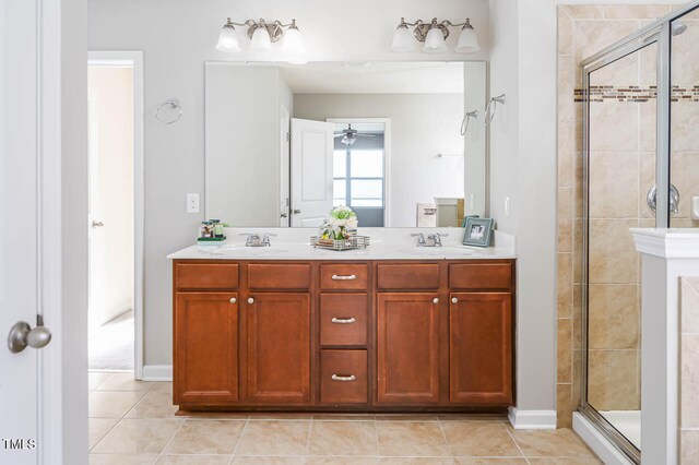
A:
<svg viewBox="0 0 699 465">
<path fill-rule="evenodd" d="M 235 263 L 177 263 L 175 286 L 179 289 L 235 289 L 238 265 Z"/>
</svg>

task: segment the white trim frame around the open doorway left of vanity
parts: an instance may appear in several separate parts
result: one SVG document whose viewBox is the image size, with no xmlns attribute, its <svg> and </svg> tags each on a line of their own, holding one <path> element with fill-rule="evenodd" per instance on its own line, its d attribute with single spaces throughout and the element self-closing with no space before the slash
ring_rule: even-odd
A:
<svg viewBox="0 0 699 465">
<path fill-rule="evenodd" d="M 143 51 L 88 50 L 87 65 L 133 68 L 133 354 L 134 378 L 143 379 L 143 277 L 144 277 L 144 103 Z"/>
</svg>

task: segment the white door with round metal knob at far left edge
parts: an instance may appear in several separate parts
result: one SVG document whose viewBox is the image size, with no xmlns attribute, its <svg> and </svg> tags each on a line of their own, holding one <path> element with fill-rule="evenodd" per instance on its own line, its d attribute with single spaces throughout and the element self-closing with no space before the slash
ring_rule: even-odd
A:
<svg viewBox="0 0 699 465">
<path fill-rule="evenodd" d="M 13 465 L 36 464 L 46 453 L 45 444 L 51 438 L 44 437 L 39 426 L 52 407 L 39 403 L 43 391 L 37 379 L 59 349 L 54 343 L 42 351 L 32 347 L 20 350 L 27 342 L 29 326 L 34 329 L 28 337 L 32 346 L 48 341 L 37 339 L 49 334 L 46 327 L 36 329 L 37 315 L 57 305 L 45 291 L 45 277 L 55 266 L 47 260 L 54 243 L 42 230 L 45 215 L 54 212 L 47 195 L 54 192 L 55 179 L 47 166 L 57 158 L 47 134 L 60 127 L 44 111 L 50 108 L 47 100 L 56 95 L 52 83 L 46 82 L 55 68 L 37 63 L 37 58 L 45 63 L 37 25 L 43 24 L 42 14 L 51 17 L 55 10 L 47 8 L 42 13 L 40 3 L 0 2 L 0 463 Z M 57 226 L 60 229 L 60 223 Z M 24 331 L 11 333 L 12 327 L 22 329 L 15 326 L 19 322 L 25 322 Z M 56 321 L 46 323 L 59 326 Z M 16 337 L 15 353 L 10 350 L 9 334 Z M 51 369 L 60 372 L 60 361 L 57 365 Z M 50 388 L 50 380 L 43 382 Z"/>
</svg>

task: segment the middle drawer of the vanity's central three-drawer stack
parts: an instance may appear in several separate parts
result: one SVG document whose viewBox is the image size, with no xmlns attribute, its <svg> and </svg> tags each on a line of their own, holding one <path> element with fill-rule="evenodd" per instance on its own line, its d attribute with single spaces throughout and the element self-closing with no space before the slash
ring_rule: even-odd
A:
<svg viewBox="0 0 699 465">
<path fill-rule="evenodd" d="M 321 294 L 320 344 L 365 346 L 367 344 L 366 294 Z"/>
</svg>

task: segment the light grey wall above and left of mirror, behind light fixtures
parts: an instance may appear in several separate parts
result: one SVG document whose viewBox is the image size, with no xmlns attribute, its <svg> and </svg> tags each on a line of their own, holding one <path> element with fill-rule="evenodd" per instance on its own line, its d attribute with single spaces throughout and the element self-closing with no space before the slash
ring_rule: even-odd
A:
<svg viewBox="0 0 699 465">
<path fill-rule="evenodd" d="M 227 55 L 214 49 L 225 19 L 295 17 L 310 61 L 483 60 L 488 56 L 486 0 L 91 0 L 91 50 L 143 50 L 145 75 L 145 363 L 171 362 L 171 270 L 165 255 L 191 245 L 201 214 L 186 213 L 188 192 L 204 191 L 204 62 L 279 60 L 277 51 Z M 471 17 L 482 50 L 463 56 L 395 55 L 389 44 L 401 16 Z M 458 34 L 450 36 L 453 46 Z M 182 103 L 176 124 L 156 122 L 153 110 L 169 97 Z M 203 199 L 202 199 L 203 200 Z M 202 203 L 203 204 L 203 203 Z"/>
</svg>

